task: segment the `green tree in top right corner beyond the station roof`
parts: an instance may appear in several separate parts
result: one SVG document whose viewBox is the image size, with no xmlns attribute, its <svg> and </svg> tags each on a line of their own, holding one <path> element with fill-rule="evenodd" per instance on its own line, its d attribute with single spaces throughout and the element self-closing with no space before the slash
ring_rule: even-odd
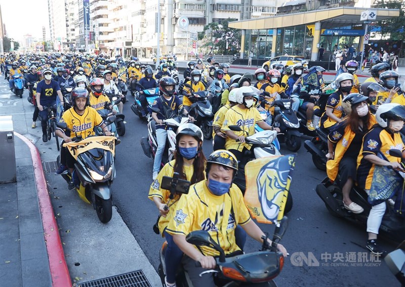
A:
<svg viewBox="0 0 405 287">
<path fill-rule="evenodd" d="M 403 52 L 403 42 L 405 41 L 405 2 L 402 0 L 377 0 L 374 8 L 399 9 L 399 17 L 374 22 L 375 27 L 381 28 L 381 35 L 389 34 L 391 40 L 399 40 L 401 46 L 399 56 Z"/>
</svg>

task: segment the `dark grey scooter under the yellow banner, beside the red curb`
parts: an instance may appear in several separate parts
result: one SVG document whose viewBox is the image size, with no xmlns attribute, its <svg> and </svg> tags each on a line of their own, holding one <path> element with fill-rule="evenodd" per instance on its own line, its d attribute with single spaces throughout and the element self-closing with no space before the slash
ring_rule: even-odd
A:
<svg viewBox="0 0 405 287">
<path fill-rule="evenodd" d="M 115 116 L 108 118 L 108 123 L 114 122 Z M 57 126 L 64 130 L 69 130 L 66 123 L 58 123 Z M 73 132 L 69 130 L 70 132 Z M 94 136 L 94 140 L 102 137 Z M 72 142 L 80 142 L 81 136 L 76 134 Z M 69 148 L 71 142 L 66 143 Z M 115 140 L 108 142 L 108 145 L 115 145 Z M 57 159 L 60 165 L 60 156 Z M 112 190 L 111 183 L 116 176 L 114 156 L 109 150 L 94 148 L 82 152 L 77 156 L 74 164 L 73 183 L 80 199 L 88 204 L 92 204 L 97 212 L 97 216 L 102 223 L 107 223 L 112 217 Z M 70 182 L 72 175 L 67 171 L 61 174 L 66 182 Z"/>
</svg>

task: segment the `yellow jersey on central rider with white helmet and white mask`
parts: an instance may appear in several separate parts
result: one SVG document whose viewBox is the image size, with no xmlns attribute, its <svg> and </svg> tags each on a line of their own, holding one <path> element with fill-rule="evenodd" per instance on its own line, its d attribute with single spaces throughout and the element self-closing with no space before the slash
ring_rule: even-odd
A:
<svg viewBox="0 0 405 287">
<path fill-rule="evenodd" d="M 251 109 L 241 109 L 238 107 L 238 105 L 236 105 L 226 112 L 221 130 L 226 132 L 230 130 L 230 125 L 238 125 L 242 131 L 233 131 L 237 136 L 246 136 L 246 132 L 249 135 L 252 135 L 255 133 L 255 124 L 261 121 L 263 121 L 263 119 L 256 108 L 252 107 Z M 244 148 L 250 150 L 252 146 L 248 145 L 246 142 L 238 142 L 229 136 L 226 138 L 226 150 L 242 151 Z"/>
</svg>

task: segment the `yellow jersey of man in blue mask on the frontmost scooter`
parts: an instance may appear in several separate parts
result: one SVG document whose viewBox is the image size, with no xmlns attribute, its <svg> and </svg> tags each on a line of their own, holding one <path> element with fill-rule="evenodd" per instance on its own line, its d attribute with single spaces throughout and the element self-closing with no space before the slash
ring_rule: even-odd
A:
<svg viewBox="0 0 405 287">
<path fill-rule="evenodd" d="M 172 235 L 187 235 L 191 231 L 206 230 L 225 254 L 238 251 L 235 228 L 251 220 L 242 193 L 232 184 L 229 193 L 216 196 L 210 192 L 206 182 L 203 180 L 191 185 L 188 195 L 180 198 L 166 231 Z M 206 256 L 219 255 L 208 247 L 200 249 Z"/>
</svg>

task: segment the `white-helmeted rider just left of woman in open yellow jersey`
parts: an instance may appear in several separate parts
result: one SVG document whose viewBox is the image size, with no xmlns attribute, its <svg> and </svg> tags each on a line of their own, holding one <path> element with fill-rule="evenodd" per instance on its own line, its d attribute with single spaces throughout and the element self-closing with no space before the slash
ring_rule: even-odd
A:
<svg viewBox="0 0 405 287">
<path fill-rule="evenodd" d="M 343 120 L 342 100 L 350 93 L 353 87 L 353 75 L 342 73 L 336 78 L 335 84 L 338 90 L 328 97 L 325 113 L 320 118 L 321 127 L 329 131 Z"/>
</svg>

